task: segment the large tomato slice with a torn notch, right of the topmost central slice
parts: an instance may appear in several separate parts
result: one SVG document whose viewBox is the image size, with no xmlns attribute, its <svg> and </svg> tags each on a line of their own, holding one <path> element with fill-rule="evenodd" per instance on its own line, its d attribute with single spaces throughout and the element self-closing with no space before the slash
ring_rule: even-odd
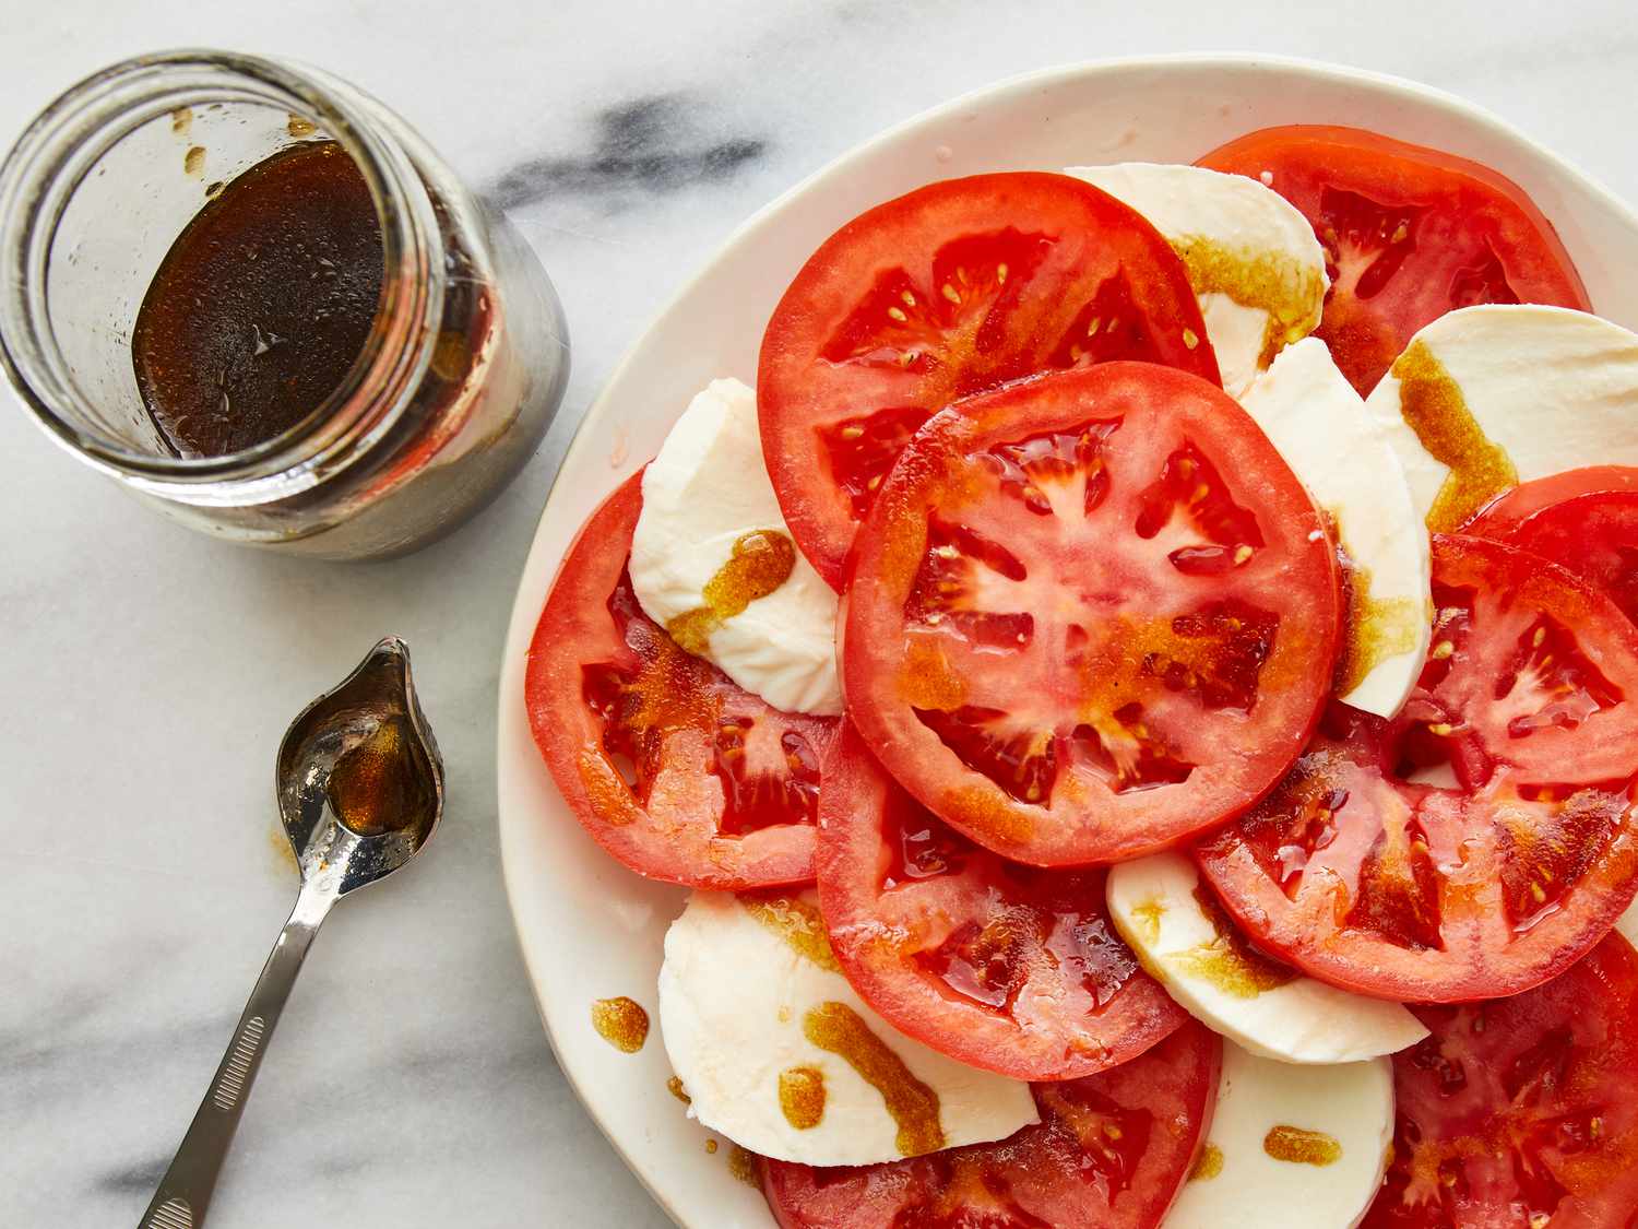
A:
<svg viewBox="0 0 1638 1229">
<path fill-rule="evenodd" d="M 1433 537 L 1433 603 L 1400 716 L 1337 705 L 1279 788 L 1196 855 L 1302 972 L 1455 1003 L 1553 977 L 1638 890 L 1638 628 L 1477 537 Z M 1414 780 L 1440 764 L 1453 787 Z"/>
</svg>

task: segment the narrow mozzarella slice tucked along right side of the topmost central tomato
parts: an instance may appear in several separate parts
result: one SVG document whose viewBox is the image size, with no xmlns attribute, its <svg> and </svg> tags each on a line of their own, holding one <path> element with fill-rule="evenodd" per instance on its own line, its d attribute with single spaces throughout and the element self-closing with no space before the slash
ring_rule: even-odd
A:
<svg viewBox="0 0 1638 1229">
<path fill-rule="evenodd" d="M 1391 718 L 1422 673 L 1433 624 L 1428 536 L 1391 429 L 1319 338 L 1281 351 L 1240 405 L 1332 516 L 1355 565 L 1337 693 Z"/>
</svg>

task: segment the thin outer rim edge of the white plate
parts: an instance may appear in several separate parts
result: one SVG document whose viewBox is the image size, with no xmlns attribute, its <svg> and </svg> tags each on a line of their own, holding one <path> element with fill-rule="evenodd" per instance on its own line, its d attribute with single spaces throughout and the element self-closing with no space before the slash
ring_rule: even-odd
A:
<svg viewBox="0 0 1638 1229">
<path fill-rule="evenodd" d="M 596 1124 L 598 1131 L 614 1149 L 616 1155 L 624 1162 L 626 1168 L 637 1178 L 642 1188 L 647 1191 L 649 1198 L 654 1200 L 676 1226 L 681 1229 L 695 1229 L 688 1226 L 676 1208 L 662 1195 L 662 1191 L 645 1173 L 639 1160 L 627 1152 L 621 1139 L 614 1134 L 613 1127 L 606 1121 L 604 1113 L 600 1108 L 596 1096 L 590 1095 L 581 1083 L 581 1073 L 577 1072 L 570 1063 L 563 1062 L 563 1045 L 559 1042 L 557 1032 L 552 1026 L 552 1019 L 547 1013 L 545 991 L 542 988 L 544 978 L 541 970 L 536 967 L 536 959 L 531 949 L 531 939 L 526 932 L 526 924 L 521 914 L 519 900 L 524 891 L 521 880 L 519 859 L 516 852 L 514 841 L 518 837 L 509 837 L 508 831 L 513 824 L 508 823 L 508 783 L 511 780 L 513 767 L 509 760 L 508 744 L 518 742 L 518 732 L 521 731 L 529 749 L 534 749 L 532 734 L 527 729 L 527 716 L 523 705 L 523 672 L 527 660 L 529 642 L 534 634 L 534 626 L 539 621 L 541 603 L 544 601 L 544 593 L 550 588 L 550 580 L 555 578 L 557 569 L 562 559 L 549 560 L 542 565 L 542 556 L 545 554 L 545 542 L 552 534 L 552 511 L 554 503 L 560 498 L 560 478 L 565 472 L 580 470 L 585 464 L 581 456 L 590 442 L 591 431 L 590 424 L 600 421 L 609 411 L 611 392 L 622 383 L 622 379 L 629 367 L 637 361 L 639 352 L 649 341 L 655 328 L 672 313 L 672 310 L 685 298 L 688 298 L 693 290 L 706 277 L 713 274 L 719 261 L 726 252 L 739 244 L 745 243 L 750 236 L 762 231 L 770 220 L 781 213 L 788 202 L 804 197 L 809 192 L 821 188 L 827 180 L 832 180 L 855 164 L 863 161 L 876 147 L 898 139 L 906 131 L 921 128 L 929 121 L 960 111 L 963 108 L 983 103 L 989 105 L 1002 98 L 1009 98 L 1017 93 L 1025 93 L 1043 85 L 1058 85 L 1061 82 L 1094 77 L 1099 74 L 1120 72 L 1120 70 L 1147 70 L 1147 69 L 1166 69 L 1166 67 L 1194 67 L 1194 69 L 1224 69 L 1230 72 L 1238 70 L 1260 70 L 1274 69 L 1297 77 L 1310 80 L 1325 80 L 1328 84 L 1345 84 L 1345 85 L 1361 85 L 1368 88 L 1379 90 L 1391 97 L 1399 97 L 1402 100 L 1414 102 L 1423 107 L 1433 107 L 1437 110 L 1453 111 L 1463 121 L 1477 126 L 1479 129 L 1487 129 L 1494 136 L 1500 136 L 1507 141 L 1525 146 L 1535 157 L 1550 164 L 1551 169 L 1574 180 L 1584 192 L 1592 195 L 1609 208 L 1612 213 L 1622 216 L 1625 223 L 1638 233 L 1638 210 L 1628 205 L 1622 197 L 1612 192 L 1602 180 L 1587 174 L 1579 166 L 1558 154 L 1551 147 L 1541 144 L 1533 136 L 1525 133 L 1517 125 L 1504 120 L 1497 113 L 1474 102 L 1463 98 L 1461 95 L 1451 93 L 1435 85 L 1427 85 L 1423 82 L 1412 80 L 1409 77 L 1399 77 L 1396 74 L 1378 72 L 1374 69 L 1363 69 L 1346 64 L 1335 64 L 1328 61 L 1312 59 L 1305 56 L 1287 56 L 1287 54 L 1265 54 L 1265 52 L 1214 52 L 1214 51 L 1188 51 L 1188 52 L 1160 52 L 1160 54 L 1142 54 L 1142 56 L 1109 56 L 1099 59 L 1071 61 L 1065 64 L 1047 66 L 1042 69 L 1034 69 L 1022 74 L 1014 74 L 1002 77 L 988 85 L 980 85 L 955 95 L 942 103 L 927 107 L 914 115 L 903 118 L 886 128 L 873 133 L 863 141 L 848 146 L 845 151 L 827 161 L 824 166 L 817 167 L 811 174 L 804 175 L 801 180 L 788 187 L 786 190 L 775 195 L 765 205 L 757 208 L 750 216 L 740 221 L 680 283 L 678 287 L 649 315 L 644 328 L 632 338 L 632 341 L 621 351 L 619 359 L 609 369 L 604 377 L 598 395 L 591 400 L 586 410 L 581 413 L 580 421 L 570 434 L 568 446 L 563 449 L 562 460 L 554 467 L 547 477 L 545 497 L 541 506 L 541 515 L 536 519 L 534 534 L 529 539 L 529 549 L 524 556 L 523 565 L 518 572 L 518 585 L 513 593 L 511 613 L 506 621 L 505 642 L 501 651 L 501 675 L 498 682 L 498 724 L 496 724 L 496 828 L 500 831 L 500 852 L 501 852 L 501 880 L 506 891 L 506 906 L 513 919 L 513 934 L 518 942 L 519 954 L 523 955 L 524 972 L 529 980 L 529 991 L 536 1003 L 536 1011 L 541 1018 L 542 1031 L 545 1032 L 547 1044 L 552 1047 L 554 1060 L 559 1070 L 563 1073 L 565 1082 L 573 1090 L 575 1098 L 585 1109 L 586 1116 Z M 537 592 L 529 582 L 532 577 L 544 575 L 545 588 Z M 606 854 L 604 854 L 606 857 Z"/>
</svg>

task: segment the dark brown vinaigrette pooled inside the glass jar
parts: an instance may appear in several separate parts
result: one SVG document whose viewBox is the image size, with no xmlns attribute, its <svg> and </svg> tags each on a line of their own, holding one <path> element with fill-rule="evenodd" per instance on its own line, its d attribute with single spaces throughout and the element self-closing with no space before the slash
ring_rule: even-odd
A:
<svg viewBox="0 0 1638 1229">
<path fill-rule="evenodd" d="M 165 442 L 218 457 L 306 418 L 364 349 L 383 269 L 370 190 L 334 141 L 282 149 L 228 184 L 136 315 L 136 383 Z"/>
</svg>

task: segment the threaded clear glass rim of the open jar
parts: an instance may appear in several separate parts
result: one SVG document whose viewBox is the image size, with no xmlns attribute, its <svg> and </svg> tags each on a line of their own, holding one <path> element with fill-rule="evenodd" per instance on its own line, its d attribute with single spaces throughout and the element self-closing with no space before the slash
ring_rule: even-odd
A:
<svg viewBox="0 0 1638 1229">
<path fill-rule="evenodd" d="M 442 315 L 439 221 L 405 149 L 316 69 L 231 51 L 136 56 L 85 77 L 49 103 L 0 164 L 0 369 L 59 444 L 97 469 L 154 492 L 229 490 L 280 480 L 310 487 L 333 464 L 387 434 L 431 364 Z M 62 211 L 95 161 L 136 128 L 180 107 L 264 102 L 314 121 L 354 161 L 375 205 L 385 262 L 370 333 L 347 377 L 303 419 L 238 452 L 170 457 L 84 431 L 64 416 L 87 405 L 51 336 L 44 272 Z M 90 146 L 92 156 L 84 157 Z M 292 485 L 293 483 L 293 485 Z"/>
</svg>

